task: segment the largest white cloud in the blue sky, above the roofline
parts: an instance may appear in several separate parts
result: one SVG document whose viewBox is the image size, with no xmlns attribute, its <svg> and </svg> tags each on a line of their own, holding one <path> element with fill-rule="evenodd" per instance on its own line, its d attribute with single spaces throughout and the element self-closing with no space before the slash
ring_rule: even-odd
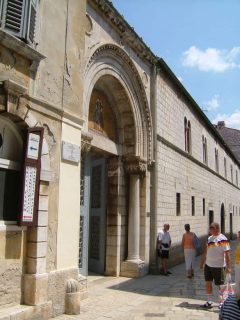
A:
<svg viewBox="0 0 240 320">
<path fill-rule="evenodd" d="M 190 47 L 183 53 L 183 66 L 198 68 L 200 71 L 224 72 L 240 68 L 240 47 L 231 50 L 208 48 L 205 51 Z"/>
</svg>

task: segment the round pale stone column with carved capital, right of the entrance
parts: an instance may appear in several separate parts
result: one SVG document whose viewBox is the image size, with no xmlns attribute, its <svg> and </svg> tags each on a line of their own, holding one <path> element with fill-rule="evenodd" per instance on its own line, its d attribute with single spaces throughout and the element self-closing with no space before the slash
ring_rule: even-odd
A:
<svg viewBox="0 0 240 320">
<path fill-rule="evenodd" d="M 138 157 L 125 158 L 129 175 L 129 213 L 128 213 L 128 256 L 121 264 L 121 275 L 141 277 L 148 272 L 140 259 L 140 178 L 145 175 L 146 162 Z"/>
</svg>

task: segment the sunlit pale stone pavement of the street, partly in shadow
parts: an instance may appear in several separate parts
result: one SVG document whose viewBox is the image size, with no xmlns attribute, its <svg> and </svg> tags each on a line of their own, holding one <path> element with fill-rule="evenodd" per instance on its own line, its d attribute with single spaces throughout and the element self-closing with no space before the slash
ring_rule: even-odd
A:
<svg viewBox="0 0 240 320">
<path fill-rule="evenodd" d="M 231 242 L 235 252 L 236 241 Z M 232 254 L 232 260 L 234 254 Z M 218 290 L 214 307 L 204 310 L 203 271 L 199 258 L 194 279 L 185 276 L 185 265 L 170 269 L 172 275 L 147 275 L 140 279 L 104 277 L 90 282 L 89 297 L 81 301 L 81 314 L 57 320 L 204 320 L 218 319 Z"/>
</svg>

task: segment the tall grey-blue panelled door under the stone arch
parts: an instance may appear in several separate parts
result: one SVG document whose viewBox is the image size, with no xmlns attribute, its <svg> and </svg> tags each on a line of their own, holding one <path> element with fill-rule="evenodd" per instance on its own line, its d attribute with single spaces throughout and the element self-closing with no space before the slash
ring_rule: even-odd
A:
<svg viewBox="0 0 240 320">
<path fill-rule="evenodd" d="M 79 269 L 105 272 L 106 261 L 106 158 L 88 154 L 81 164 Z"/>
</svg>

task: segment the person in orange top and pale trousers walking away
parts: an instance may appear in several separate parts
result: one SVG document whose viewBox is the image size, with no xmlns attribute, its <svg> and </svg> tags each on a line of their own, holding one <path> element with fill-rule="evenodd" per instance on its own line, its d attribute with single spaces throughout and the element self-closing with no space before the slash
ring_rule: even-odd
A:
<svg viewBox="0 0 240 320">
<path fill-rule="evenodd" d="M 196 249 L 194 247 L 194 237 L 195 233 L 190 231 L 190 224 L 185 224 L 185 233 L 182 237 L 182 247 L 184 250 L 184 258 L 186 265 L 187 277 L 191 279 L 194 276 L 194 265 L 196 257 Z"/>
</svg>

